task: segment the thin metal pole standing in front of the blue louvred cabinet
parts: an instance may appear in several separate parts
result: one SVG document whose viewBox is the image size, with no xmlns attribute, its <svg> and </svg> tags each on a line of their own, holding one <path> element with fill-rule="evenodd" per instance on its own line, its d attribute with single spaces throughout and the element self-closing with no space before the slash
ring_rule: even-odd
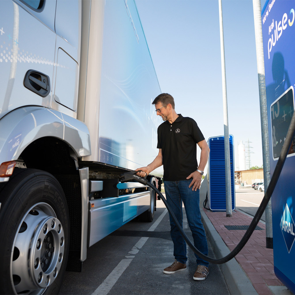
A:
<svg viewBox="0 0 295 295">
<path fill-rule="evenodd" d="M 219 0 L 219 28 L 220 28 L 220 51 L 222 71 L 222 100 L 223 100 L 223 124 L 224 124 L 224 156 L 225 156 L 225 191 L 226 191 L 226 217 L 232 217 L 232 188 L 230 177 L 230 135 L 228 132 L 227 94 L 225 78 L 225 56 L 222 22 L 222 5 Z"/>
</svg>

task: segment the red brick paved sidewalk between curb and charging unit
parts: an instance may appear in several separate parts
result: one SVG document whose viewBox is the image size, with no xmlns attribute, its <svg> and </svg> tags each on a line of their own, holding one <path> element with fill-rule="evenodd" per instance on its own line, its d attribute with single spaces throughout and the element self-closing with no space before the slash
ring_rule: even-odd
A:
<svg viewBox="0 0 295 295">
<path fill-rule="evenodd" d="M 204 209 L 220 237 L 230 250 L 240 242 L 246 230 L 229 230 L 225 226 L 250 225 L 252 218 L 242 212 L 212 212 Z M 266 248 L 265 224 L 258 222 L 262 230 L 254 230 L 245 247 L 235 256 L 258 294 L 291 294 L 273 271 L 273 250 Z"/>
</svg>

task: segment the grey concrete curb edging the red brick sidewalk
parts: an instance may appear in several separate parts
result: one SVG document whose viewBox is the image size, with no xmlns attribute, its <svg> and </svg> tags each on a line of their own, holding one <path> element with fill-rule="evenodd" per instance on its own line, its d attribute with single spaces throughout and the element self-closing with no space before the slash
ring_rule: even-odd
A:
<svg viewBox="0 0 295 295">
<path fill-rule="evenodd" d="M 222 258 L 230 253 L 229 248 L 223 242 L 217 230 L 207 217 L 206 213 L 200 208 L 202 222 L 207 235 L 207 239 L 212 245 L 217 258 Z M 237 260 L 232 259 L 224 264 L 219 264 L 224 275 L 230 294 L 258 295 L 249 278 L 241 268 Z"/>
</svg>

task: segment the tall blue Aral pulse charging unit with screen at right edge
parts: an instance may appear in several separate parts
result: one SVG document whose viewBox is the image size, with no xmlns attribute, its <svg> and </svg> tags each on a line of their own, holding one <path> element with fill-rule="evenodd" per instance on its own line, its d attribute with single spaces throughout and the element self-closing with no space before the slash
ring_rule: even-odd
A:
<svg viewBox="0 0 295 295">
<path fill-rule="evenodd" d="M 295 1 L 266 1 L 261 13 L 271 175 L 294 112 Z M 272 194 L 276 276 L 295 294 L 295 137 Z"/>
</svg>

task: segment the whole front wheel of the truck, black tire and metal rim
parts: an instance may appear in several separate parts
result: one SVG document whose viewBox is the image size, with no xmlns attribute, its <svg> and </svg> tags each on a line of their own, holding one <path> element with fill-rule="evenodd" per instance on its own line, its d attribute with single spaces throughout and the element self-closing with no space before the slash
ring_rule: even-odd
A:
<svg viewBox="0 0 295 295">
<path fill-rule="evenodd" d="M 58 294 L 69 250 L 60 184 L 45 171 L 15 168 L 0 202 L 0 294 Z"/>
</svg>

